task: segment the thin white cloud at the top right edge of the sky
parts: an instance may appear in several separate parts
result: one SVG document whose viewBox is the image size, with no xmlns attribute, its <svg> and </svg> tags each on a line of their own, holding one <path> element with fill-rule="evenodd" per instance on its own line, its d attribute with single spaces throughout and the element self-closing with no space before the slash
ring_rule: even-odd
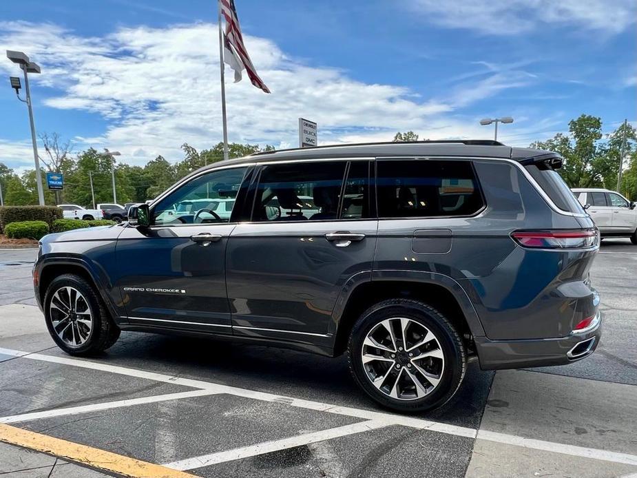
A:
<svg viewBox="0 0 637 478">
<path fill-rule="evenodd" d="M 531 32 L 546 25 L 573 25 L 616 34 L 637 19 L 634 0 L 410 0 L 410 3 L 426 21 L 496 35 Z"/>
</svg>

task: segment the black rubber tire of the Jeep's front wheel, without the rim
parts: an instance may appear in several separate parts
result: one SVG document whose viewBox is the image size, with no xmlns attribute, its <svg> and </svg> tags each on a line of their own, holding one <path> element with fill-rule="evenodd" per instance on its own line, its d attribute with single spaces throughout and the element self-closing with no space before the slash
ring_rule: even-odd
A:
<svg viewBox="0 0 637 478">
<path fill-rule="evenodd" d="M 85 342 L 75 346 L 65 342 L 56 333 L 53 326 L 52 315 L 54 311 L 52 311 L 51 302 L 54 300 L 56 291 L 61 291 L 64 287 L 72 287 L 79 291 L 91 313 L 91 331 L 88 333 Z M 117 341 L 121 332 L 119 327 L 113 322 L 103 300 L 95 291 L 93 285 L 87 282 L 85 278 L 75 274 L 63 274 L 49 284 L 44 298 L 44 318 L 54 342 L 60 349 L 70 355 L 95 355 L 105 351 Z"/>
</svg>

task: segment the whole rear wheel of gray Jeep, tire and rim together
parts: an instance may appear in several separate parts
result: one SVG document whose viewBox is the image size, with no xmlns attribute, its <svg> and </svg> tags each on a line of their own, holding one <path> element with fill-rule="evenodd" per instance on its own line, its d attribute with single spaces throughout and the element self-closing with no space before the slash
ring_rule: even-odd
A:
<svg viewBox="0 0 637 478">
<path fill-rule="evenodd" d="M 355 323 L 348 362 L 376 402 L 401 412 L 446 403 L 466 371 L 466 349 L 449 320 L 424 302 L 379 302 Z"/>
</svg>

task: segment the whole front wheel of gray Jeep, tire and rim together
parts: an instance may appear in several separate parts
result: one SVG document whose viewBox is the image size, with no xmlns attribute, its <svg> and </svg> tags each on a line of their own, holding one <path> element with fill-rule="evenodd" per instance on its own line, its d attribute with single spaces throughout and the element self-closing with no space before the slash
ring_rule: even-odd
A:
<svg viewBox="0 0 637 478">
<path fill-rule="evenodd" d="M 74 274 L 51 282 L 44 299 L 44 316 L 55 343 L 71 355 L 104 351 L 120 334 L 94 287 Z"/>
</svg>

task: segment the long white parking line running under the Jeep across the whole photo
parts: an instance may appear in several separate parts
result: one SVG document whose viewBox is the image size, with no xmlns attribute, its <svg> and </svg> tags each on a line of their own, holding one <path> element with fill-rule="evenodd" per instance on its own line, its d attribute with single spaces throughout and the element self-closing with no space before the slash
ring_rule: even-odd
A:
<svg viewBox="0 0 637 478">
<path fill-rule="evenodd" d="M 105 371 L 110 373 L 118 373 L 121 375 L 128 375 L 130 377 L 145 378 L 148 380 L 156 380 L 158 382 L 166 382 L 171 384 L 178 384 L 184 386 L 191 386 L 194 388 L 200 388 L 212 393 L 227 393 L 229 395 L 237 395 L 240 397 L 248 397 L 252 399 L 262 400 L 265 402 L 282 403 L 289 406 L 297 406 L 300 408 L 307 408 L 315 411 L 322 411 L 327 413 L 335 413 L 337 415 L 346 415 L 349 417 L 359 417 L 366 420 L 373 420 L 382 422 L 384 424 L 395 424 L 408 426 L 412 428 L 421 428 L 426 430 L 437 431 L 439 433 L 446 433 L 448 435 L 456 435 L 461 437 L 474 438 L 477 435 L 481 439 L 488 441 L 496 441 L 503 444 L 512 444 L 524 446 L 534 450 L 550 450 L 554 453 L 563 453 L 564 455 L 572 455 L 582 458 L 594 458 L 604 461 L 612 461 L 615 463 L 637 465 L 637 455 L 629 455 L 627 453 L 616 453 L 608 450 L 600 450 L 596 448 L 584 448 L 580 446 L 572 446 L 567 444 L 556 443 L 552 441 L 542 441 L 535 439 L 527 439 L 518 437 L 516 435 L 507 435 L 505 433 L 495 433 L 487 430 L 480 430 L 479 433 L 474 428 L 467 428 L 463 426 L 455 426 L 449 424 L 443 424 L 440 422 L 432 422 L 430 420 L 424 420 L 419 418 L 413 418 L 406 415 L 394 415 L 392 413 L 374 412 L 368 410 L 362 410 L 360 408 L 350 408 L 344 406 L 335 406 L 331 404 L 325 404 L 322 402 L 313 402 L 311 400 L 295 399 L 291 397 L 282 397 L 280 395 L 274 395 L 272 393 L 258 392 L 249 390 L 247 388 L 238 388 L 233 386 L 227 386 L 222 384 L 215 384 L 213 382 L 205 382 L 203 380 L 191 380 L 181 377 L 171 377 L 163 373 L 154 373 L 137 370 L 135 368 L 126 368 L 116 365 L 109 365 L 97 362 L 89 362 L 87 360 L 72 359 L 67 357 L 55 357 L 53 355 L 43 355 L 40 353 L 28 353 L 23 351 L 16 351 L 12 349 L 0 348 L 0 354 L 12 355 L 14 357 L 23 357 L 29 360 L 39 360 L 44 362 L 52 362 L 56 364 L 65 364 L 72 366 L 79 366 L 83 368 L 91 368 L 93 370 Z"/>
</svg>

